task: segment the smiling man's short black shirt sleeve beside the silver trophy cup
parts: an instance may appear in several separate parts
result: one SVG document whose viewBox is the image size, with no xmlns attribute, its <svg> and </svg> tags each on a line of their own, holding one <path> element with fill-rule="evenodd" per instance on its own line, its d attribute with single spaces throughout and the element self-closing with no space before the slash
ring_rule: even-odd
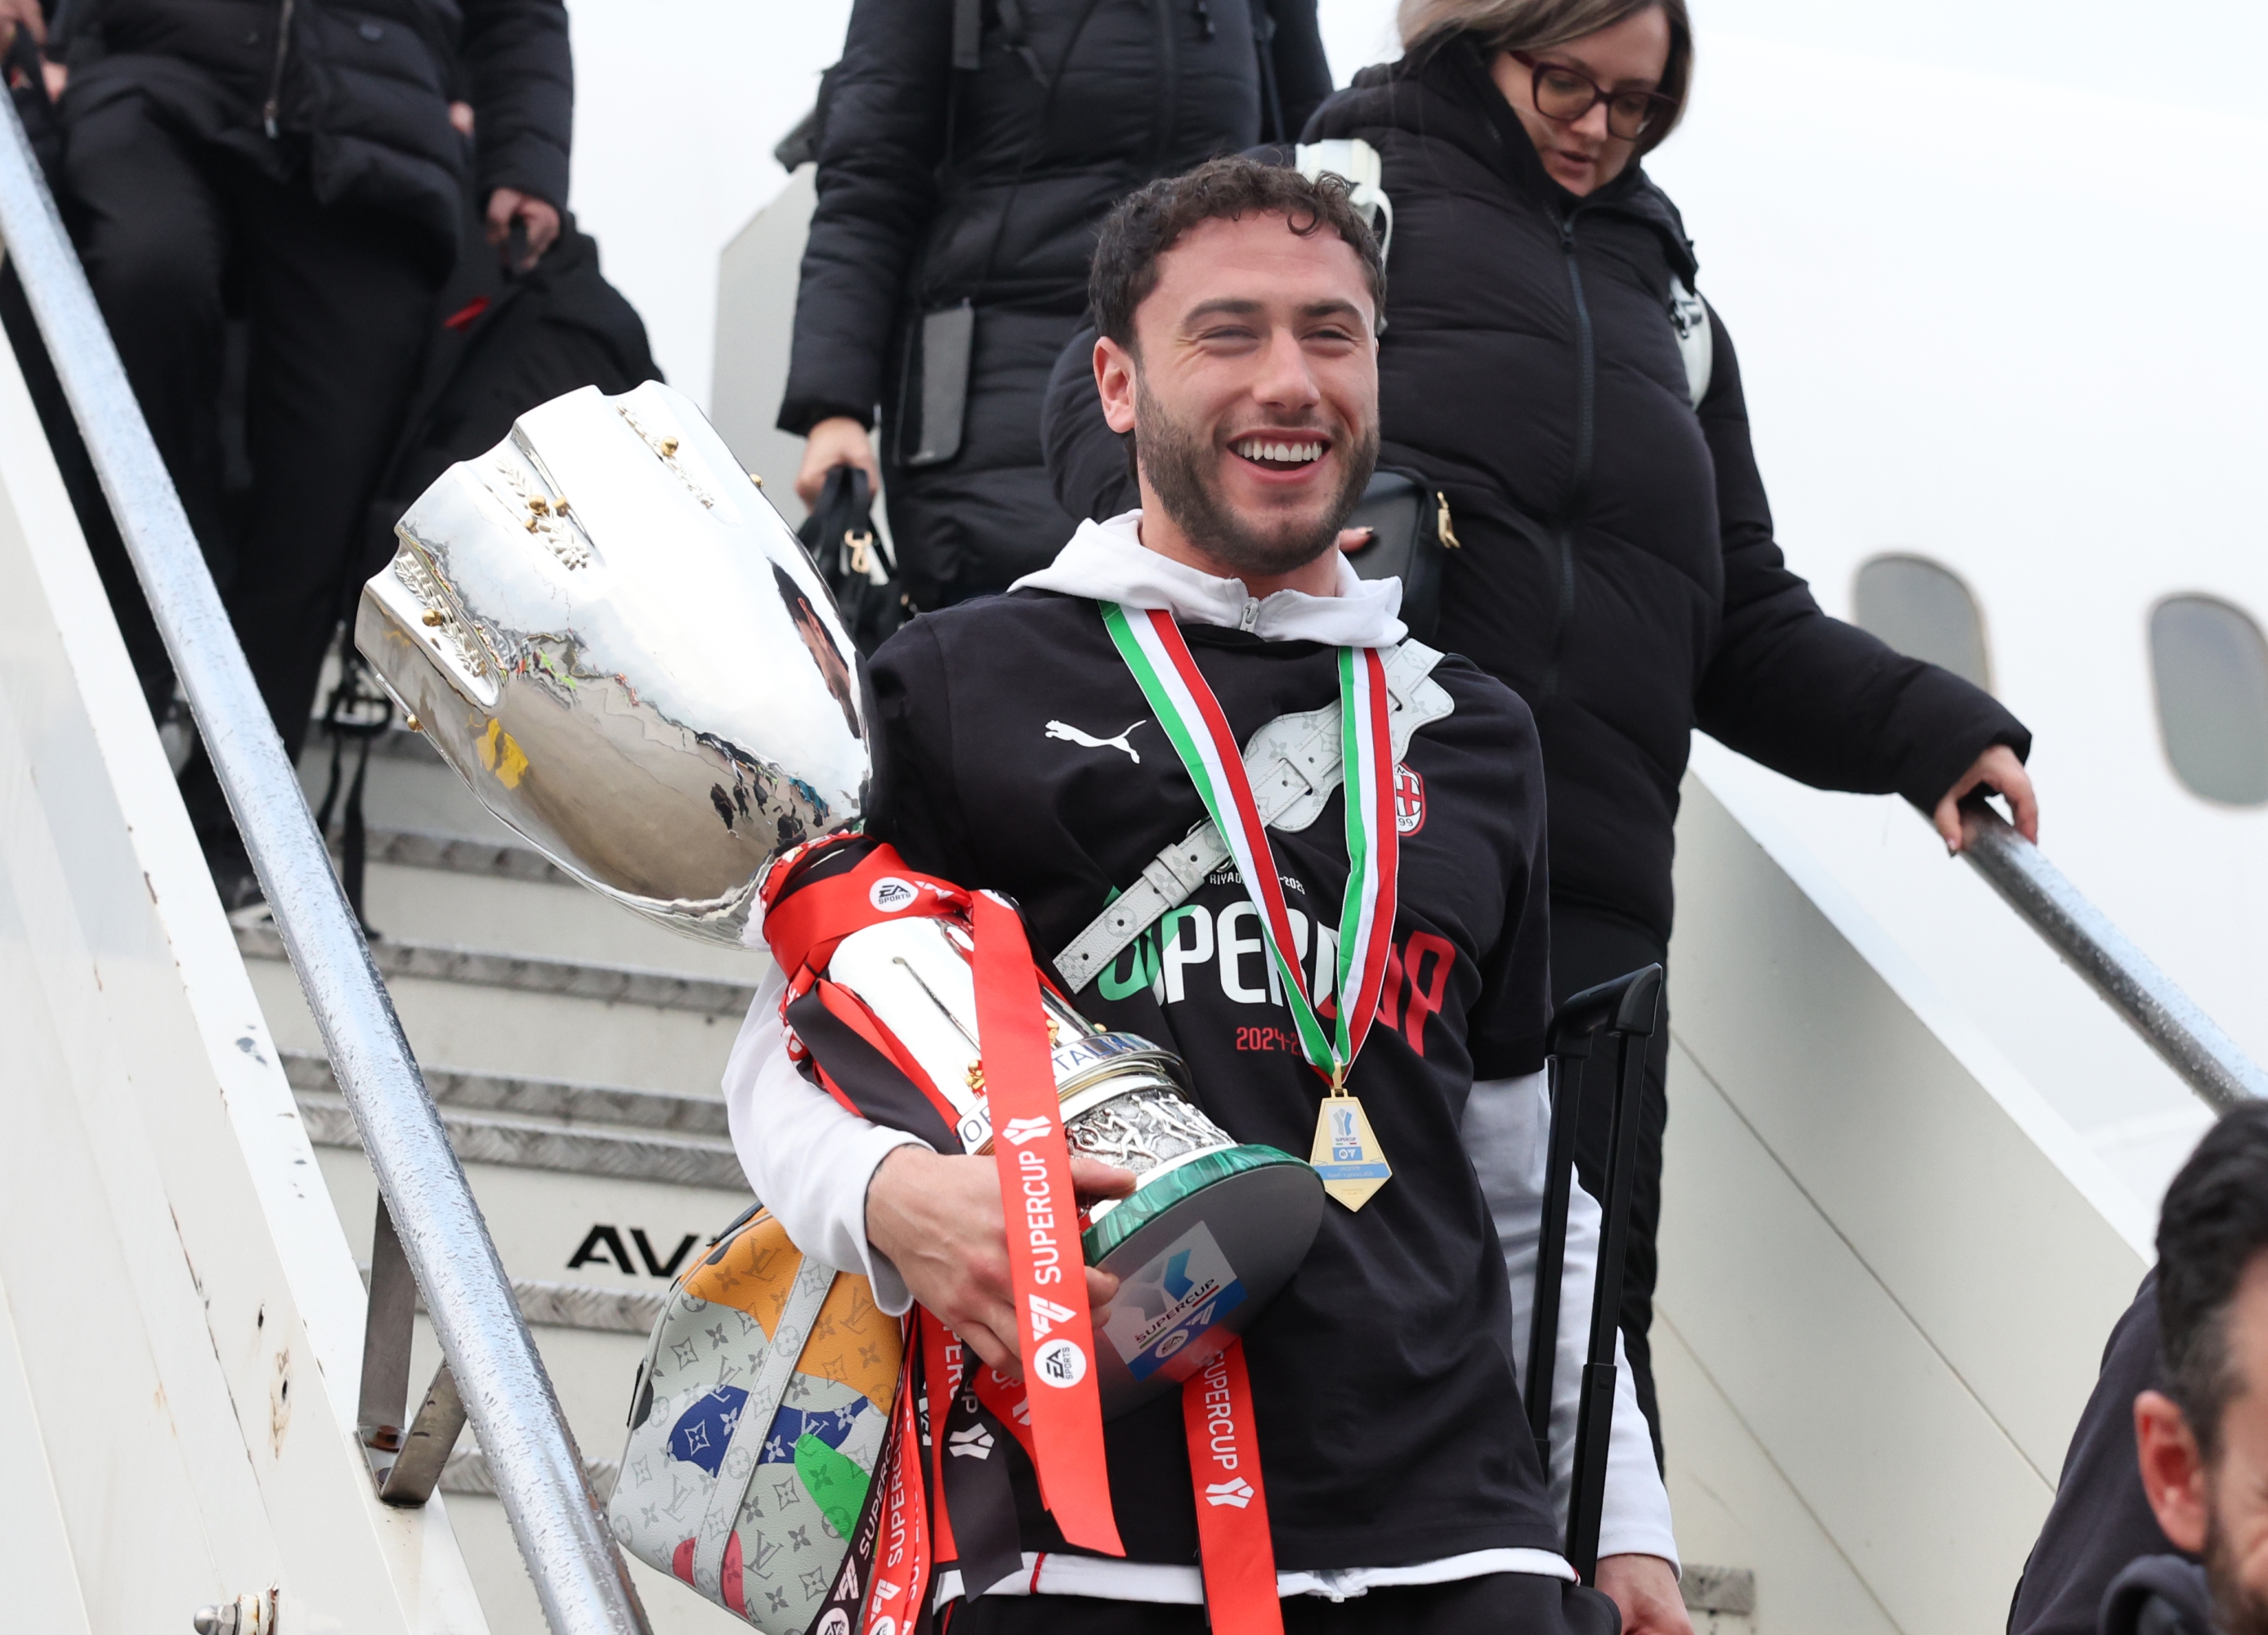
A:
<svg viewBox="0 0 2268 1635">
<path fill-rule="evenodd" d="M 953 787 L 953 687 L 925 619 L 898 628 L 866 664 L 875 778 L 866 832 L 907 864 L 962 884 L 973 878 L 968 828 Z"/>
</svg>

